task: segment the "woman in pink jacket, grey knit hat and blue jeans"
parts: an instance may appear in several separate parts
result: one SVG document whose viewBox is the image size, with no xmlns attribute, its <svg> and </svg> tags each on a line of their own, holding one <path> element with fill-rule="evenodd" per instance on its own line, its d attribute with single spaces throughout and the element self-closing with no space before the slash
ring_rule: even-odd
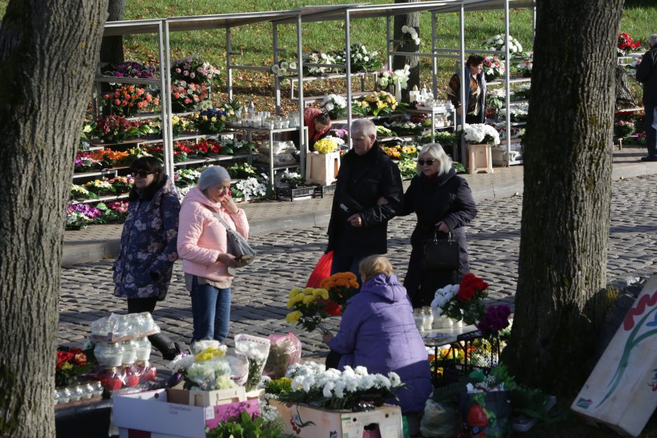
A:
<svg viewBox="0 0 657 438">
<path fill-rule="evenodd" d="M 244 210 L 231 198 L 231 177 L 221 166 L 201 173 L 198 185 L 187 193 L 180 208 L 178 256 L 182 258 L 185 285 L 192 295 L 192 342 L 224 342 L 230 328 L 231 282 L 239 264 L 226 252 L 228 226 L 249 237 Z"/>
</svg>

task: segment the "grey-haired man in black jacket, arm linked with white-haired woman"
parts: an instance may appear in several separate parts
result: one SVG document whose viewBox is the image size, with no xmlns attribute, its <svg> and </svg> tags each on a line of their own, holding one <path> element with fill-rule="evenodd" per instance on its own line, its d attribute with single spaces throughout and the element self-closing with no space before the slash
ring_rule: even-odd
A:
<svg viewBox="0 0 657 438">
<path fill-rule="evenodd" d="M 375 124 L 358 119 L 349 136 L 354 148 L 340 161 L 326 251 L 334 251 L 331 274 L 351 271 L 360 282 L 360 261 L 387 252 L 388 221 L 403 205 L 403 189 L 399 168 L 377 143 Z M 388 203 L 377 205 L 382 196 Z"/>
</svg>

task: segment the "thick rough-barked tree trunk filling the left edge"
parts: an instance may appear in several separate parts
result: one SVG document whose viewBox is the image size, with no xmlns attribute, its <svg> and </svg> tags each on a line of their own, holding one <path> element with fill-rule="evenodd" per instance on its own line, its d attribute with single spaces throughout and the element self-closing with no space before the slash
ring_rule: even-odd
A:
<svg viewBox="0 0 657 438">
<path fill-rule="evenodd" d="M 107 0 L 10 0 L 0 26 L 0 436 L 54 437 L 59 272 Z"/>
</svg>

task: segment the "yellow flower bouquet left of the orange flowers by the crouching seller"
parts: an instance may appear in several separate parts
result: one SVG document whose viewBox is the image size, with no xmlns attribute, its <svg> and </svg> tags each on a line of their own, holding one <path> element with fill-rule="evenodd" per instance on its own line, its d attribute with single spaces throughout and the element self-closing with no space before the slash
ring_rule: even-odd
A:
<svg viewBox="0 0 657 438">
<path fill-rule="evenodd" d="M 329 317 L 329 312 L 326 312 L 326 300 L 329 300 L 329 291 L 326 289 L 292 289 L 287 308 L 293 310 L 285 316 L 285 321 L 289 324 L 296 323 L 309 332 L 319 328 L 322 333 L 326 333 L 328 330 L 322 326 L 322 320 Z"/>
</svg>

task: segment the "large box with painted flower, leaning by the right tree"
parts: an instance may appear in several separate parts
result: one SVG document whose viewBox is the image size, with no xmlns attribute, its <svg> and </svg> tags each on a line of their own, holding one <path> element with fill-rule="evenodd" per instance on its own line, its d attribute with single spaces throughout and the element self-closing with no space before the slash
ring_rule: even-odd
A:
<svg viewBox="0 0 657 438">
<path fill-rule="evenodd" d="M 651 277 L 570 409 L 640 435 L 657 406 L 657 276 Z"/>
</svg>

